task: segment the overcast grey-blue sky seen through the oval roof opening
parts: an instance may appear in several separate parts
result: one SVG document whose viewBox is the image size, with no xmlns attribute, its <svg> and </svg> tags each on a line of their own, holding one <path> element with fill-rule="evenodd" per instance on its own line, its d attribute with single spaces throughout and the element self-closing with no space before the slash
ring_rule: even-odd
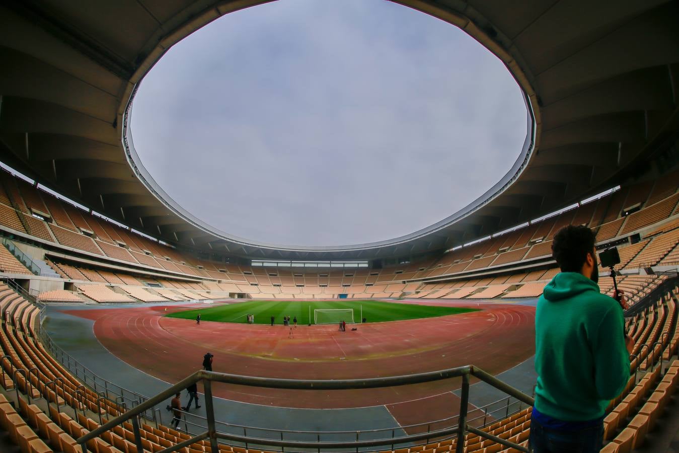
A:
<svg viewBox="0 0 679 453">
<path fill-rule="evenodd" d="M 280 0 L 208 24 L 134 99 L 144 166 L 187 211 L 280 244 L 385 240 L 509 170 L 526 107 L 456 27 L 382 0 Z"/>
</svg>

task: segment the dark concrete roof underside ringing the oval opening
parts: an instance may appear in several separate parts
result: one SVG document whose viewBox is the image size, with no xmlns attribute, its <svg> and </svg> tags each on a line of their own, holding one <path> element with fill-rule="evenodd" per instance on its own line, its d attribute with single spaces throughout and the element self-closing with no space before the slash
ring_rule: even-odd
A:
<svg viewBox="0 0 679 453">
<path fill-rule="evenodd" d="M 237 238 L 186 213 L 135 164 L 127 113 L 174 43 L 260 3 L 3 1 L 0 160 L 179 246 L 253 259 L 374 259 L 448 249 L 630 181 L 653 170 L 679 130 L 677 1 L 401 0 L 460 27 L 513 73 L 529 112 L 519 160 L 466 208 L 400 238 L 345 247 Z"/>
</svg>

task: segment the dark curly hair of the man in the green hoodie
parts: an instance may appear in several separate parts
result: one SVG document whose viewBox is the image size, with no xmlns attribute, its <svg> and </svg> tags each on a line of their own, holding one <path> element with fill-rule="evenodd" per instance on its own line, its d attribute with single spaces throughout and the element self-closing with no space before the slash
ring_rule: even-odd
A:
<svg viewBox="0 0 679 453">
<path fill-rule="evenodd" d="M 587 253 L 593 253 L 594 233 L 583 225 L 568 225 L 559 230 L 552 242 L 552 256 L 561 272 L 580 272 L 587 259 Z M 596 260 L 596 257 L 593 256 Z"/>
</svg>

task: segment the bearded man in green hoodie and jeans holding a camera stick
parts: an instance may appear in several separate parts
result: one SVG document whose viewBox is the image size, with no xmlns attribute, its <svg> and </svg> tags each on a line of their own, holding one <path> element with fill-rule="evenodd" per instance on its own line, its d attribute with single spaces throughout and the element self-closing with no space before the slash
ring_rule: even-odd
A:
<svg viewBox="0 0 679 453">
<path fill-rule="evenodd" d="M 622 295 L 608 297 L 597 285 L 593 232 L 562 228 L 552 253 L 562 272 L 545 287 L 535 314 L 530 444 L 535 453 L 598 452 L 608 401 L 630 376 L 634 342 L 624 333 Z"/>
</svg>

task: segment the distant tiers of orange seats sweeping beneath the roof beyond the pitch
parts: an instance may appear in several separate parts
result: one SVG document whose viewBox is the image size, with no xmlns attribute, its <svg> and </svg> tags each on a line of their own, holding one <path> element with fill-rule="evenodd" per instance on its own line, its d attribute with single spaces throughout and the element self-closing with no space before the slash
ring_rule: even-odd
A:
<svg viewBox="0 0 679 453">
<path fill-rule="evenodd" d="M 64 244 L 72 249 L 94 253 L 99 257 L 95 260 L 106 261 L 108 259 L 110 264 L 128 268 L 128 272 L 111 272 L 106 268 L 96 268 L 92 265 L 79 266 L 65 261 L 55 263 L 54 260 L 45 257 L 45 262 L 52 266 L 62 278 L 141 288 L 144 285 L 133 276 L 136 268 L 160 273 L 172 272 L 172 276 L 168 275 L 168 278 L 156 278 L 156 280 L 162 287 L 188 291 L 173 292 L 172 297 L 175 298 L 203 299 L 215 296 L 224 297 L 232 293 L 241 293 L 260 299 L 337 297 L 340 293 L 346 293 L 350 298 L 407 296 L 479 299 L 486 296 L 488 298 L 500 297 L 500 295 L 505 298 L 534 297 L 540 293 L 538 287 L 544 286 L 555 275 L 556 270 L 546 269 L 545 266 L 538 270 L 524 272 L 515 272 L 512 269 L 525 262 L 532 263 L 532 260 L 537 260 L 539 264 L 548 259 L 551 255 L 551 238 L 559 228 L 570 222 L 579 224 L 589 221 L 592 228 L 598 227 L 597 237 L 602 244 L 611 241 L 620 242 L 621 238 L 626 237 L 622 234 L 623 231 L 625 234 L 640 232 L 642 234 L 640 242 L 618 244 L 622 259 L 619 268 L 625 269 L 626 272 L 636 272 L 642 269 L 644 271 L 639 272 L 643 273 L 651 266 L 671 265 L 679 261 L 677 256 L 679 251 L 676 247 L 679 242 L 679 229 L 677 228 L 679 219 L 673 214 L 679 202 L 679 194 L 676 194 L 676 187 L 672 188 L 671 177 L 663 177 L 655 184 L 642 181 L 642 183 L 623 187 L 610 195 L 568 209 L 524 228 L 445 253 L 438 259 L 428 258 L 407 266 L 390 266 L 376 271 L 358 269 L 345 275 L 346 272 L 342 270 L 329 270 L 324 274 L 322 270 L 315 269 L 304 269 L 293 273 L 289 269 L 250 268 L 229 264 L 222 264 L 218 268 L 210 261 L 196 259 L 158 242 L 153 242 L 144 236 L 132 234 L 105 219 L 58 200 L 51 194 L 26 185 L 24 181 L 16 177 L 2 173 L 3 183 L 6 187 L 10 187 L 9 193 L 11 194 L 8 197 L 7 192 L 3 191 L 4 196 L 0 196 L 0 209 L 7 213 L 5 217 L 9 219 L 5 219 L 4 223 L 0 222 L 2 225 L 16 231 L 21 231 L 26 225 L 28 228 L 23 228 L 23 230 L 31 232 L 32 237 L 47 241 L 54 246 Z M 622 211 L 623 207 L 627 208 L 631 204 L 638 204 L 642 207 L 640 211 L 625 216 Z M 24 219 L 23 223 L 20 217 L 16 216 L 13 207 L 15 205 L 18 206 L 20 216 Z M 29 215 L 30 209 L 37 209 L 49 215 L 49 221 L 32 217 Z M 54 233 L 54 236 L 50 232 Z M 92 237 L 87 235 L 90 233 Z M 6 259 L 12 260 L 10 257 Z M 129 266 L 136 267 L 130 268 Z M 495 272 L 494 275 L 481 278 L 476 276 L 462 278 L 466 274 L 480 273 L 482 275 L 496 268 L 503 272 L 500 274 Z M 545 273 L 546 271 L 549 272 Z M 175 280 L 175 276 L 202 280 L 203 284 L 198 285 L 196 281 L 190 284 L 183 283 L 182 280 Z M 441 287 L 432 287 L 431 283 L 436 282 L 428 281 L 441 280 L 448 276 L 454 277 L 455 280 Z M 625 277 L 621 276 L 620 279 L 622 282 Z M 458 280 L 464 280 L 459 287 L 454 285 L 454 282 Z M 646 282 L 649 285 L 643 290 L 640 285 L 631 285 L 632 280 L 627 280 L 626 285 L 629 285 L 628 289 L 641 291 L 640 294 L 642 294 L 650 291 L 656 281 L 660 280 L 638 279 L 638 282 Z M 389 283 L 395 285 L 385 285 Z M 406 284 L 409 285 L 407 289 Z M 496 287 L 499 284 L 509 286 L 500 291 L 501 287 Z M 468 286 L 476 288 L 473 291 L 469 289 L 460 291 L 460 288 Z M 443 291 L 444 289 L 447 291 Z M 608 291 L 606 285 L 602 286 L 602 290 Z M 500 293 L 496 293 L 497 291 Z M 629 298 L 638 300 L 640 296 L 631 293 Z"/>
</svg>

